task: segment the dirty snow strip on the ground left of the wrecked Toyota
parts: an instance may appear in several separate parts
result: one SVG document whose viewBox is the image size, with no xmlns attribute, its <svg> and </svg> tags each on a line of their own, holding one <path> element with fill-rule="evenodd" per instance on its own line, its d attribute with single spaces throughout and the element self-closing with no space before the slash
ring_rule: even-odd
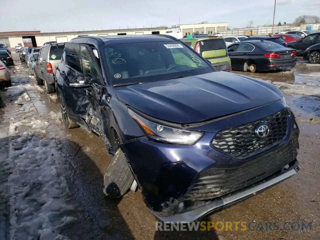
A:
<svg viewBox="0 0 320 240">
<path fill-rule="evenodd" d="M 20 89 L 21 86 L 14 88 Z M 20 93 L 14 88 L 8 88 L 7 93 Z M 15 103 L 20 105 L 14 104 L 11 108 L 12 117 L 8 119 L 10 147 L 5 159 L 6 170 L 11 173 L 7 183 L 10 237 L 68 239 L 60 232 L 77 220 L 72 217 L 77 206 L 68 204 L 67 177 L 71 171 L 61 151 L 61 143 L 46 136 L 50 124 L 39 116 L 27 92 L 21 93 Z M 58 116 L 51 112 L 50 118 L 57 120 Z"/>
</svg>

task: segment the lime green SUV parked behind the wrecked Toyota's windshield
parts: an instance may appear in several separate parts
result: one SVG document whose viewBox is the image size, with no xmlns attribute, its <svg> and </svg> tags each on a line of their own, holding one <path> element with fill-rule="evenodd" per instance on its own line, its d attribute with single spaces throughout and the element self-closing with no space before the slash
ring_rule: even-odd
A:
<svg viewBox="0 0 320 240">
<path fill-rule="evenodd" d="M 194 38 L 191 36 L 180 40 L 209 60 L 217 71 L 231 71 L 231 60 L 223 37 Z"/>
</svg>

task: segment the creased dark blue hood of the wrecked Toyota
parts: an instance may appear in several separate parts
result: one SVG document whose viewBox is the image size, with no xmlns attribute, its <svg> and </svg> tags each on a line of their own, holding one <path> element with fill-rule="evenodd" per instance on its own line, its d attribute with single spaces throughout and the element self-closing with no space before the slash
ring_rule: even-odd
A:
<svg viewBox="0 0 320 240">
<path fill-rule="evenodd" d="M 117 98 L 149 116 L 194 123 L 280 100 L 272 84 L 228 72 L 116 87 Z"/>
</svg>

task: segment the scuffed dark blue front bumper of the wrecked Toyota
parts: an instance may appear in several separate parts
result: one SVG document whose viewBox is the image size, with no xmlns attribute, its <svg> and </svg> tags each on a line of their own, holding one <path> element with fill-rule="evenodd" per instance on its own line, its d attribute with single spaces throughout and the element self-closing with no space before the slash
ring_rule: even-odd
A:
<svg viewBox="0 0 320 240">
<path fill-rule="evenodd" d="M 212 145 L 216 133 L 230 128 L 230 124 L 236 124 L 231 127 L 251 121 L 256 124 L 256 116 L 260 116 L 261 119 L 269 118 L 278 111 L 284 111 L 284 108 L 281 102 L 276 101 L 261 108 L 206 124 L 201 126 L 201 129 L 195 128 L 193 130 L 205 133 L 195 145 L 191 146 L 163 144 L 147 140 L 145 137 L 124 143 L 121 148 L 128 156 L 129 165 L 148 209 L 162 221 L 194 221 L 294 175 L 291 170 L 298 171 L 296 152 L 299 148 L 299 128 L 291 111 L 288 111 L 284 137 L 280 136 L 280 141 L 268 147 L 256 148 L 246 156 L 235 156 Z M 281 121 L 278 117 L 276 119 L 278 123 Z M 272 135 L 272 138 L 278 138 L 280 132 L 274 131 L 273 134 L 275 135 Z M 288 157 L 284 158 L 287 155 Z M 286 165 L 290 168 L 284 169 Z M 210 179 L 206 181 L 214 182 L 213 177 L 218 176 L 219 171 L 224 172 L 220 174 L 222 177 L 219 177 L 218 184 L 228 185 L 227 189 L 223 186 L 223 189 L 213 191 L 212 188 L 216 186 L 208 188 L 207 183 L 199 184 L 199 180 L 205 179 L 208 172 Z M 248 176 L 252 178 L 248 179 Z M 223 184 L 223 180 L 226 179 L 226 184 Z M 237 184 L 237 179 L 242 181 Z M 191 195 L 201 184 L 204 187 L 199 189 L 204 191 L 200 191 L 200 194 L 203 193 L 204 198 L 199 196 L 199 192 L 196 193 L 197 196 Z M 184 206 L 181 207 L 180 203 Z"/>
</svg>

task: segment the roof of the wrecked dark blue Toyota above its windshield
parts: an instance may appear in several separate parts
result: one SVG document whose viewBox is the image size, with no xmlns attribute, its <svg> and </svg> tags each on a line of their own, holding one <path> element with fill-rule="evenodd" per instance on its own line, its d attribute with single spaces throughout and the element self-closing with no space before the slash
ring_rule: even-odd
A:
<svg viewBox="0 0 320 240">
<path fill-rule="evenodd" d="M 96 39 L 101 45 L 124 44 L 124 43 L 147 43 L 147 42 L 170 42 L 177 41 L 175 37 L 169 35 L 115 35 L 115 36 L 80 36 L 71 39 Z M 53 44 L 52 44 L 53 45 Z"/>
</svg>

